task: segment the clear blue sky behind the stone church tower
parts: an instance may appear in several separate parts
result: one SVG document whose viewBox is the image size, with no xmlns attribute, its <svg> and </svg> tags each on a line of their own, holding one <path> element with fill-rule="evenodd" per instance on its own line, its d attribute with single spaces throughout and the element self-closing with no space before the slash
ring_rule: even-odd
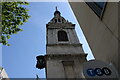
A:
<svg viewBox="0 0 120 80">
<path fill-rule="evenodd" d="M 46 24 L 53 18 L 55 7 L 68 21 L 76 24 L 76 32 L 83 44 L 88 59 L 92 59 L 91 51 L 85 41 L 79 24 L 69 6 L 65 2 L 30 2 L 27 8 L 31 18 L 23 26 L 23 31 L 12 35 L 9 39 L 10 47 L 2 46 L 2 66 L 10 78 L 45 78 L 45 70 L 35 67 L 36 56 L 46 54 Z"/>
</svg>

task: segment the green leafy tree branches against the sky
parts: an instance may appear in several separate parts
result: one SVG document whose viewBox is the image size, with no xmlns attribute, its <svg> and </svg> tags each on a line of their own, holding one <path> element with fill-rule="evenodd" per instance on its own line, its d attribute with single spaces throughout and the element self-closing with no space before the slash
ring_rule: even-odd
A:
<svg viewBox="0 0 120 80">
<path fill-rule="evenodd" d="M 29 19 L 28 9 L 24 6 L 28 5 L 28 2 L 1 2 L 2 5 L 2 32 L 1 43 L 3 45 L 8 44 L 8 39 L 12 34 L 17 34 L 22 31 L 20 25 L 27 22 Z"/>
</svg>

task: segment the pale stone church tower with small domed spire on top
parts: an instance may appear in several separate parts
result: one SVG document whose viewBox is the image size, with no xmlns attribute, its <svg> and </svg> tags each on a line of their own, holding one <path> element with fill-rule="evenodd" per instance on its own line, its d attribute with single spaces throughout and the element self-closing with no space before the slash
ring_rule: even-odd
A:
<svg viewBox="0 0 120 80">
<path fill-rule="evenodd" d="M 82 64 L 87 54 L 78 40 L 75 24 L 65 20 L 56 7 L 46 29 L 46 77 L 83 78 Z"/>
</svg>

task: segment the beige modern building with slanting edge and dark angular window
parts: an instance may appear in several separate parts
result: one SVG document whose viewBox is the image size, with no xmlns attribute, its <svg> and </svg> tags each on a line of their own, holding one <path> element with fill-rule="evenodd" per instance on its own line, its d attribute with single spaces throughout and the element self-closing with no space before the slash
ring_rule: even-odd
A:
<svg viewBox="0 0 120 80">
<path fill-rule="evenodd" d="M 114 65 L 120 75 L 120 2 L 86 1 L 69 3 L 95 59 Z"/>
</svg>

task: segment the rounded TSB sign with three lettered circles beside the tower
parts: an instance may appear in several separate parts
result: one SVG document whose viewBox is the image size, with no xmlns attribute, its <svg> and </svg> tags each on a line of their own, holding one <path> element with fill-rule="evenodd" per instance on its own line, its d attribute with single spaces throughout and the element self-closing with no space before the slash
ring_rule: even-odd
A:
<svg viewBox="0 0 120 80">
<path fill-rule="evenodd" d="M 99 60 L 92 60 L 83 64 L 85 78 L 118 78 L 113 65 Z"/>
</svg>

